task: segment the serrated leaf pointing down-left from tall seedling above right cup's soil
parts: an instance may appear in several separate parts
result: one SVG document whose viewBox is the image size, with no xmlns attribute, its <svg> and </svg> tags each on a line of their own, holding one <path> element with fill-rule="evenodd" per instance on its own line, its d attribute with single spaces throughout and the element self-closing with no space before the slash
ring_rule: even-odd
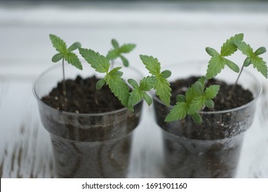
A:
<svg viewBox="0 0 268 192">
<path fill-rule="evenodd" d="M 221 72 L 222 69 L 225 67 L 225 61 L 221 57 L 212 57 L 208 64 L 207 73 L 205 77 L 207 80 L 215 77 L 218 73 Z"/>
</svg>

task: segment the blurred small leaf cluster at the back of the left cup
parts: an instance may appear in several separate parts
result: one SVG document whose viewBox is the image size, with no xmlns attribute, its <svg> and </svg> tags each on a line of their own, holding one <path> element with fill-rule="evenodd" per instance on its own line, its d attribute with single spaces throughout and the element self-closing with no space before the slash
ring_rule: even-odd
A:
<svg viewBox="0 0 268 192">
<path fill-rule="evenodd" d="M 121 58 L 125 67 L 129 66 L 129 60 L 127 60 L 122 54 L 131 52 L 136 45 L 132 43 L 124 44 L 120 46 L 118 41 L 114 38 L 111 40 L 111 44 L 113 45 L 113 49 L 111 49 L 108 53 L 106 58 L 108 60 L 115 60 L 116 58 Z"/>
</svg>

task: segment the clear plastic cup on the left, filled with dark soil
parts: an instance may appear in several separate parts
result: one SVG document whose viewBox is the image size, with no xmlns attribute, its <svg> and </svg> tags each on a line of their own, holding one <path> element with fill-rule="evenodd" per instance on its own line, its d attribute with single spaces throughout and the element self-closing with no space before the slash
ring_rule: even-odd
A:
<svg viewBox="0 0 268 192">
<path fill-rule="evenodd" d="M 80 71 L 65 64 L 65 78 L 90 77 L 93 69 Z M 142 75 L 131 67 L 122 69 L 124 77 L 139 80 Z M 111 112 L 77 114 L 56 110 L 41 98 L 62 81 L 62 67 L 45 71 L 34 83 L 41 123 L 49 132 L 60 178 L 124 178 L 131 154 L 133 130 L 139 125 L 142 101 L 131 112 L 127 108 Z"/>
</svg>

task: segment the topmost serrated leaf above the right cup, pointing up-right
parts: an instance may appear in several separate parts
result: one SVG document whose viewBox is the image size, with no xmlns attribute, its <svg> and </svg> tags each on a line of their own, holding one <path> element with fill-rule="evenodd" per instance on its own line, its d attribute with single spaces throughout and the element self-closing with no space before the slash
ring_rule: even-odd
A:
<svg viewBox="0 0 268 192">
<path fill-rule="evenodd" d="M 243 34 L 236 34 L 235 36 L 232 36 L 231 38 L 227 39 L 226 42 L 223 43 L 223 46 L 221 47 L 221 56 L 231 56 L 232 53 L 234 53 L 237 50 L 234 41 L 242 41 L 242 40 L 243 40 Z"/>
</svg>

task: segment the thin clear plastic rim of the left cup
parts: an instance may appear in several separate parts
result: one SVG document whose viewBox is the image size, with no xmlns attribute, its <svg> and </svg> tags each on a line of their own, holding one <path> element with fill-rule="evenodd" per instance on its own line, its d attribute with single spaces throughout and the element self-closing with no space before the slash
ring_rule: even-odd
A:
<svg viewBox="0 0 268 192">
<path fill-rule="evenodd" d="M 65 69 L 67 67 L 74 67 L 74 66 L 70 66 L 71 64 L 67 64 L 65 62 Z M 36 84 L 38 83 L 39 80 L 41 80 L 41 78 L 46 75 L 47 73 L 49 73 L 49 71 L 53 71 L 54 69 L 58 68 L 58 67 L 61 67 L 62 65 L 61 64 L 57 64 L 53 67 L 49 67 L 48 69 L 46 69 L 45 71 L 43 71 L 43 73 L 41 73 L 41 75 L 39 75 L 36 80 L 34 81 L 33 85 L 32 85 L 32 92 L 34 94 L 34 97 L 36 98 L 36 100 L 38 101 L 39 104 L 42 104 L 43 106 L 45 106 L 46 108 L 49 108 L 50 110 L 54 110 L 54 111 L 57 111 L 57 112 L 60 112 L 62 113 L 63 115 L 76 115 L 76 116 L 79 116 L 79 117 L 96 117 L 96 116 L 103 116 L 103 115 L 112 115 L 112 114 L 115 114 L 115 113 L 118 113 L 118 112 L 124 112 L 124 111 L 127 111 L 129 110 L 128 108 L 124 107 L 124 108 L 120 108 L 118 110 L 112 110 L 112 111 L 109 111 L 109 112 L 95 112 L 95 113 L 76 113 L 76 112 L 68 112 L 68 111 L 65 111 L 65 110 L 57 110 L 55 108 L 53 108 L 52 106 L 49 106 L 47 104 L 45 104 L 45 102 L 43 102 L 41 100 L 41 98 L 38 97 L 37 93 L 36 93 Z M 132 69 L 134 70 L 136 73 L 139 73 L 139 75 L 142 75 L 142 73 L 140 73 L 135 67 L 131 67 L 129 66 L 128 67 L 129 69 Z M 78 70 L 78 69 L 77 69 Z M 55 82 L 56 84 L 56 82 Z M 141 103 L 143 100 L 139 101 L 139 103 Z M 136 105 L 138 105 L 139 103 L 137 103 Z"/>
</svg>

